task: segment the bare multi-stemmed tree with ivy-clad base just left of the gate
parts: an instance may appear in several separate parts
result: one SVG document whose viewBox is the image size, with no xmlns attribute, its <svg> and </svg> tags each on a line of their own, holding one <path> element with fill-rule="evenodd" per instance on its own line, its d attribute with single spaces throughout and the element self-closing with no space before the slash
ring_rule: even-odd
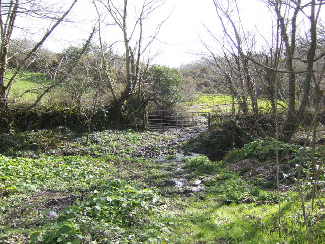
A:
<svg viewBox="0 0 325 244">
<path fill-rule="evenodd" d="M 121 2 L 121 1 L 120 1 Z M 157 25 L 155 32 L 151 36 L 144 36 L 144 25 L 147 19 L 154 13 L 154 11 L 159 8 L 165 1 L 161 0 L 143 0 L 141 5 L 129 6 L 129 1 L 124 0 L 121 4 L 113 0 L 93 0 L 98 12 L 98 23 L 99 23 L 99 36 L 100 36 L 100 45 L 102 47 L 102 52 L 104 53 L 101 36 L 101 28 L 103 21 L 107 21 L 106 18 L 110 16 L 110 24 L 117 26 L 122 34 L 123 40 L 120 40 L 124 44 L 124 67 L 125 67 L 125 86 L 122 90 L 120 96 L 116 94 L 114 88 L 114 81 L 110 76 L 110 72 L 107 68 L 106 60 L 104 55 L 103 58 L 103 67 L 108 80 L 109 88 L 113 96 L 113 102 L 111 104 L 110 115 L 117 122 L 125 120 L 124 114 L 126 110 L 130 108 L 131 104 L 128 104 L 128 100 L 135 93 L 136 87 L 139 85 L 141 80 L 141 66 L 148 66 L 148 60 L 144 60 L 143 56 L 146 51 L 150 48 L 151 43 L 156 39 L 161 25 L 164 23 L 162 21 Z M 104 14 L 101 14 L 101 8 L 104 8 Z M 136 9 L 136 16 L 129 16 L 128 11 L 130 8 Z M 107 16 L 108 13 L 108 16 Z M 105 15 L 106 14 L 106 15 Z M 134 21 L 130 21 L 131 17 Z M 110 25 L 108 24 L 108 25 Z M 107 25 L 106 25 L 107 26 Z M 132 108 L 131 110 L 138 109 Z"/>
</svg>

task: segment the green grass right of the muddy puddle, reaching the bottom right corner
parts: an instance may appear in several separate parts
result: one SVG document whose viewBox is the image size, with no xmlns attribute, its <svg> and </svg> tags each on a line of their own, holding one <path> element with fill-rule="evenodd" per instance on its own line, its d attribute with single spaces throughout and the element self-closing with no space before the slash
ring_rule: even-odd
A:
<svg viewBox="0 0 325 244">
<path fill-rule="evenodd" d="M 160 213 L 165 225 L 173 223 L 172 230 L 161 236 L 169 239 L 167 243 L 308 243 L 296 190 L 281 192 L 280 238 L 272 188 L 262 189 L 258 182 L 243 180 L 226 169 L 225 163 L 208 162 L 202 156 L 190 158 L 185 167 L 205 178 L 206 193 L 171 198 L 168 210 Z M 308 194 L 306 198 L 313 243 L 324 243 L 325 210 L 317 205 L 312 211 Z"/>
</svg>

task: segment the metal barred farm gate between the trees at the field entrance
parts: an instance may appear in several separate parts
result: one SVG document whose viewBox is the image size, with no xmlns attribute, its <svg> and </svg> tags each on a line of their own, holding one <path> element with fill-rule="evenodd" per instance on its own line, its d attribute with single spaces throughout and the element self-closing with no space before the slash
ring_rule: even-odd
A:
<svg viewBox="0 0 325 244">
<path fill-rule="evenodd" d="M 210 127 L 210 113 L 146 110 L 145 122 L 149 130 L 201 132 Z"/>
</svg>

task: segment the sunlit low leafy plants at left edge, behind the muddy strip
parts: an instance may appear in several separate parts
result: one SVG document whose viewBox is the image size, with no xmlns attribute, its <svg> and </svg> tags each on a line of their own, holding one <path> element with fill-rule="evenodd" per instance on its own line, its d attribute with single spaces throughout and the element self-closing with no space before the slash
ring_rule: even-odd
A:
<svg viewBox="0 0 325 244">
<path fill-rule="evenodd" d="M 2 195 L 30 190 L 66 191 L 83 189 L 101 180 L 109 165 L 90 157 L 53 157 L 39 159 L 0 156 Z"/>
</svg>

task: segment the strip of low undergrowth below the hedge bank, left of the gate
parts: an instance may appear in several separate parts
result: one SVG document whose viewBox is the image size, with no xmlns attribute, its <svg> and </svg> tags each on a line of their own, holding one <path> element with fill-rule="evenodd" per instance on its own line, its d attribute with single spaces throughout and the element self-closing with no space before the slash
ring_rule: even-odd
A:
<svg viewBox="0 0 325 244">
<path fill-rule="evenodd" d="M 0 136 L 0 151 L 6 156 L 29 158 L 37 158 L 41 155 L 137 157 L 139 153 L 142 153 L 142 148 L 147 151 L 150 149 L 156 155 L 162 154 L 162 150 L 168 150 L 168 148 L 152 145 L 157 142 L 168 144 L 171 138 L 177 136 L 175 133 L 106 130 L 91 133 L 89 142 L 85 143 L 85 135 L 75 134 L 67 127 L 57 127 L 55 129 L 3 134 Z M 146 155 L 145 153 L 143 154 Z"/>
</svg>

